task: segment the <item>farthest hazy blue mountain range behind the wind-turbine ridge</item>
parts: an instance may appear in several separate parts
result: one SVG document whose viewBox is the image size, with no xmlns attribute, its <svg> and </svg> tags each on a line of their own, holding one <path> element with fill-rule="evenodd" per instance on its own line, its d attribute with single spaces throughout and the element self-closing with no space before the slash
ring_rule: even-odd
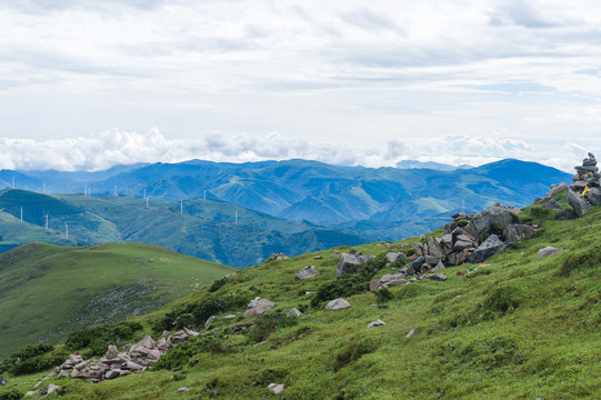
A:
<svg viewBox="0 0 601 400">
<path fill-rule="evenodd" d="M 172 209 L 182 200 L 184 209 L 189 207 L 186 200 L 218 200 L 312 228 L 398 240 L 428 232 L 457 212 L 477 212 L 495 202 L 530 204 L 552 183 L 570 180 L 554 168 L 511 159 L 454 170 L 425 166 L 432 169 L 339 167 L 307 160 L 240 164 L 191 160 L 101 172 L 3 170 L 0 187 L 94 197 L 112 193 L 146 198 L 151 204 L 158 199 L 177 201 L 169 206 Z M 8 212 L 19 217 L 14 209 Z M 216 221 L 234 222 L 236 208 L 219 218 Z M 222 257 L 213 259 L 224 262 Z"/>
</svg>

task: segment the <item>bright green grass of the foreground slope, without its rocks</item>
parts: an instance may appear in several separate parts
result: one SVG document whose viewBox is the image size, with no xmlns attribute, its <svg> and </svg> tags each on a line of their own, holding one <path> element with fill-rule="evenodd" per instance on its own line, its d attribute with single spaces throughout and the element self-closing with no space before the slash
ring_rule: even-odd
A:
<svg viewBox="0 0 601 400">
<path fill-rule="evenodd" d="M 553 198 L 567 207 L 565 191 Z M 370 264 L 379 267 L 377 272 L 370 267 L 337 277 L 338 259 L 330 256 L 349 247 L 241 270 L 212 292 L 200 290 L 134 320 L 143 329 L 127 339 L 131 342 L 150 331 L 158 339 L 187 312 L 193 316 L 187 323 L 198 331 L 217 316 L 204 338 L 178 344 L 150 370 L 99 384 L 47 382 L 61 386 L 57 397 L 62 399 L 273 399 L 270 383 L 284 384 L 286 399 L 595 399 L 601 207 L 570 221 L 558 216 L 540 204 L 522 210 L 522 223 L 540 227 L 534 238 L 514 242 L 484 264 L 439 271 L 445 281 L 367 291 L 369 280 L 397 272 L 394 264 L 380 267 L 384 254 L 411 254 L 415 243 L 428 241 L 419 238 L 355 247 L 379 256 Z M 442 229 L 429 237 L 441 236 Z M 562 252 L 540 258 L 548 246 Z M 308 263 L 319 274 L 294 278 Z M 254 297 L 276 306 L 244 318 Z M 350 308 L 325 310 L 337 297 Z M 293 308 L 302 314 L 286 317 Z M 236 317 L 224 319 L 228 314 Z M 375 320 L 384 324 L 368 328 Z M 246 322 L 256 326 L 233 334 L 231 326 Z M 68 350 L 91 356 L 86 348 Z M 8 386 L 32 390 L 41 377 L 9 379 Z"/>
</svg>

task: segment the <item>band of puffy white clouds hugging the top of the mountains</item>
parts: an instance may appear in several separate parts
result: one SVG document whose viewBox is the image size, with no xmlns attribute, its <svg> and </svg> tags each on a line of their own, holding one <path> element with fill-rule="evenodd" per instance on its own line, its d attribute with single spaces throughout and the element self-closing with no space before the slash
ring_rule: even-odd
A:
<svg viewBox="0 0 601 400">
<path fill-rule="evenodd" d="M 541 159 L 533 146 L 501 137 L 475 139 L 447 136 L 425 143 L 419 140 L 391 140 L 381 146 L 374 143 L 355 147 L 291 140 L 278 132 L 260 138 L 246 133 L 213 133 L 198 139 L 167 139 L 158 129 L 137 133 L 114 128 L 97 136 L 71 139 L 0 139 L 0 169 L 98 171 L 137 162 L 179 162 L 191 159 L 246 162 L 299 158 L 340 166 L 378 168 L 394 167 L 405 159 L 479 166 L 503 158 L 518 158 L 571 171 L 587 151 L 595 149 L 601 150 L 601 142 L 594 149 L 567 142 Z"/>
</svg>

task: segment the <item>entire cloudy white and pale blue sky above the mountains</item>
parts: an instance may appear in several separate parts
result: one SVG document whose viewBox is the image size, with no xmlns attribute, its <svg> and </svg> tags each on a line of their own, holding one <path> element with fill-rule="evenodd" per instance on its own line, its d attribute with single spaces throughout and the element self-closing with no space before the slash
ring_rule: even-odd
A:
<svg viewBox="0 0 601 400">
<path fill-rule="evenodd" d="M 601 157 L 598 1 L 2 0 L 0 168 Z"/>
</svg>

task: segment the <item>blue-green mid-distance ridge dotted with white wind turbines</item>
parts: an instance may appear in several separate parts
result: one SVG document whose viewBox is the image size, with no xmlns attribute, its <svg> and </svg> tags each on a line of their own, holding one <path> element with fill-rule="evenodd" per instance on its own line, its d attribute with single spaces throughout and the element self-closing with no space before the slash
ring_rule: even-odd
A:
<svg viewBox="0 0 601 400">
<path fill-rule="evenodd" d="M 342 243 L 367 242 L 351 231 L 287 221 L 222 201 L 187 200 L 183 210 L 180 207 L 179 201 L 158 199 L 149 199 L 146 208 L 142 199 L 123 196 L 40 194 L 8 189 L 0 191 L 0 208 L 6 213 L 6 218 L 0 214 L 0 247 L 7 250 L 30 241 L 143 242 L 246 268 L 274 252 L 297 256 Z M 46 216 L 49 229 L 43 229 Z M 63 239 L 66 223 L 69 241 Z"/>
</svg>

